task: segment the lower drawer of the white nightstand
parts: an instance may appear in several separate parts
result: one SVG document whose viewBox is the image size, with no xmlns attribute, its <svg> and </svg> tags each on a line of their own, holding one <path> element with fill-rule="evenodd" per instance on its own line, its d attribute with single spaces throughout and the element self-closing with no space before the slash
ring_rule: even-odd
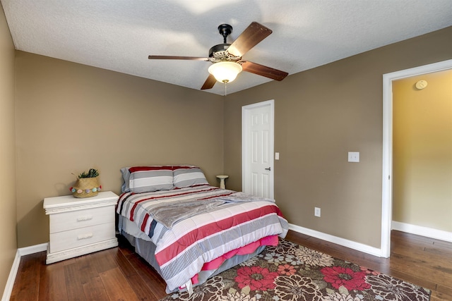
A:
<svg viewBox="0 0 452 301">
<path fill-rule="evenodd" d="M 51 233 L 49 249 L 51 253 L 54 253 L 73 247 L 90 245 L 102 240 L 115 238 L 114 234 L 114 221 L 71 231 Z"/>
</svg>

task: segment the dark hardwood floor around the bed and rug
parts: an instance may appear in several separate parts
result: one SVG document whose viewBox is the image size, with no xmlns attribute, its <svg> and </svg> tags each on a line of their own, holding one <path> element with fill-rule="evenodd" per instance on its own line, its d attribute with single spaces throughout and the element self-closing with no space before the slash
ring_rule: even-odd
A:
<svg viewBox="0 0 452 301">
<path fill-rule="evenodd" d="M 383 259 L 289 231 L 287 240 L 432 290 L 452 300 L 452 243 L 393 231 Z M 22 257 L 11 300 L 159 300 L 165 283 L 119 238 L 119 247 L 45 264 L 45 252 Z"/>
</svg>

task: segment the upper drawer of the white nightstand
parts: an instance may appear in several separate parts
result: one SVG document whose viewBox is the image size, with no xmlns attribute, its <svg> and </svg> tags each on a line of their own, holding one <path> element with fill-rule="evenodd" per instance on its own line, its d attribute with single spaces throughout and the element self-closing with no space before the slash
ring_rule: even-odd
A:
<svg viewBox="0 0 452 301">
<path fill-rule="evenodd" d="M 50 233 L 73 230 L 100 223 L 114 222 L 114 207 L 98 207 L 53 214 L 50 219 Z"/>
</svg>

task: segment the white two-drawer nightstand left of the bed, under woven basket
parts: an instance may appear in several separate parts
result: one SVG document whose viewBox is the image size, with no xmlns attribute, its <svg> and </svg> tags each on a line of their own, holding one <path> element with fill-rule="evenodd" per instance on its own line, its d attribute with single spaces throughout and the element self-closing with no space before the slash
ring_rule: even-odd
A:
<svg viewBox="0 0 452 301">
<path fill-rule="evenodd" d="M 114 207 L 118 198 L 111 191 L 81 199 L 46 197 L 44 209 L 50 220 L 46 264 L 117 247 Z"/>
</svg>

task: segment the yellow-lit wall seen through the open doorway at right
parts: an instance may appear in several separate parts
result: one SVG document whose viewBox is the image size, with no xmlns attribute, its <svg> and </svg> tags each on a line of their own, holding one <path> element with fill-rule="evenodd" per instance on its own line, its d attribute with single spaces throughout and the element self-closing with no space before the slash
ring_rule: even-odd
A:
<svg viewBox="0 0 452 301">
<path fill-rule="evenodd" d="M 393 82 L 393 220 L 452 232 L 452 70 Z"/>
</svg>

